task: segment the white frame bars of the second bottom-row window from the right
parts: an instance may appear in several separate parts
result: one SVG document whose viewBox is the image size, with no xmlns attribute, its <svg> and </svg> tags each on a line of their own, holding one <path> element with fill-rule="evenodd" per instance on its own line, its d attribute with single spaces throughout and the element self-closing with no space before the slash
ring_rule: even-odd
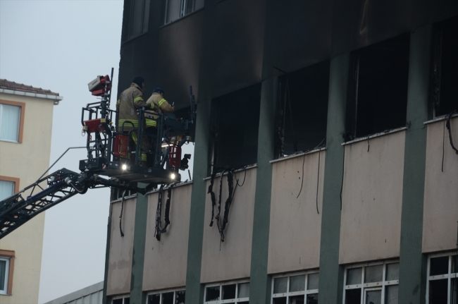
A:
<svg viewBox="0 0 458 304">
<path fill-rule="evenodd" d="M 343 292 L 342 304 L 345 304 L 346 292 L 349 289 L 361 289 L 361 302 L 360 302 L 361 304 L 366 303 L 366 297 L 365 297 L 366 291 L 380 290 L 382 291 L 381 303 L 385 303 L 385 286 L 395 286 L 395 285 L 399 286 L 399 278 L 397 280 L 385 281 L 387 265 L 388 264 L 399 264 L 399 262 L 400 262 L 399 259 L 382 260 L 382 261 L 376 261 L 376 262 L 357 263 L 357 264 L 345 266 L 344 292 Z M 365 267 L 377 266 L 377 265 L 383 265 L 382 281 L 373 282 L 373 283 L 364 283 Z M 361 284 L 346 285 L 347 284 L 347 271 L 348 269 L 353 269 L 353 268 L 361 268 Z"/>
</svg>

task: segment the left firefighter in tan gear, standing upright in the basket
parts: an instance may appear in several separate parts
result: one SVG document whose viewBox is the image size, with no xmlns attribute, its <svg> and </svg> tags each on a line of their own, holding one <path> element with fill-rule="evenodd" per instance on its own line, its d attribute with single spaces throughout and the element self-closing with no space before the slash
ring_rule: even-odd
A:
<svg viewBox="0 0 458 304">
<path fill-rule="evenodd" d="M 116 111 L 118 111 L 118 131 L 123 131 L 128 133 L 132 130 L 132 124 L 134 126 L 134 131 L 130 133 L 132 141 L 137 145 L 138 140 L 138 116 L 137 109 L 145 107 L 150 110 L 158 110 L 155 104 L 147 104 L 143 100 L 143 88 L 144 88 L 144 78 L 142 76 L 136 76 L 132 80 L 132 84 L 128 87 L 127 90 L 124 90 L 120 95 L 118 102 L 116 102 Z M 124 123 L 124 126 L 123 126 Z M 123 151 L 127 150 L 127 142 L 123 142 L 121 149 Z M 142 151 L 140 152 L 142 162 L 141 166 L 147 164 L 147 154 L 144 153 L 148 150 L 148 140 L 146 136 L 142 138 Z"/>
</svg>

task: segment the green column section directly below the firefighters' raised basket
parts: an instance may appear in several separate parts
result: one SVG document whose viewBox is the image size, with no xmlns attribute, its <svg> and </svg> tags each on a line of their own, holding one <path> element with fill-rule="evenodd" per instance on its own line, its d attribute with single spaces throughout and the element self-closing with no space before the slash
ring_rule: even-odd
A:
<svg viewBox="0 0 458 304">
<path fill-rule="evenodd" d="M 139 183 L 142 188 L 147 184 Z M 137 193 L 135 207 L 134 248 L 132 253 L 132 274 L 130 279 L 130 303 L 144 304 L 147 294 L 143 292 L 144 244 L 147 237 L 148 195 Z M 154 271 L 154 269 L 151 269 Z"/>
</svg>

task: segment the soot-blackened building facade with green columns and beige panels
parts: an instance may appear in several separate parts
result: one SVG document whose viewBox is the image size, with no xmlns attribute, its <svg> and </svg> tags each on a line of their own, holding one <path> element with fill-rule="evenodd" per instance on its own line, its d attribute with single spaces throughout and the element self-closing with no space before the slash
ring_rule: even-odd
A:
<svg viewBox="0 0 458 304">
<path fill-rule="evenodd" d="M 120 56 L 194 172 L 161 241 L 112 200 L 104 303 L 457 303 L 457 1 L 125 0 Z"/>
</svg>

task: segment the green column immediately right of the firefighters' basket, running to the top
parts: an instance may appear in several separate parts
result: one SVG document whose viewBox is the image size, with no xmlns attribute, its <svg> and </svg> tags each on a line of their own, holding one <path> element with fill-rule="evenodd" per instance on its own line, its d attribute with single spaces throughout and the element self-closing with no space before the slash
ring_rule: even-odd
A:
<svg viewBox="0 0 458 304">
<path fill-rule="evenodd" d="M 213 44 L 217 35 L 214 25 L 218 0 L 205 0 L 202 47 L 199 66 L 199 96 L 194 146 L 194 172 L 191 195 L 190 234 L 187 245 L 186 303 L 203 303 L 204 286 L 200 284 L 206 182 L 210 174 L 210 114 L 213 77 Z"/>
</svg>

